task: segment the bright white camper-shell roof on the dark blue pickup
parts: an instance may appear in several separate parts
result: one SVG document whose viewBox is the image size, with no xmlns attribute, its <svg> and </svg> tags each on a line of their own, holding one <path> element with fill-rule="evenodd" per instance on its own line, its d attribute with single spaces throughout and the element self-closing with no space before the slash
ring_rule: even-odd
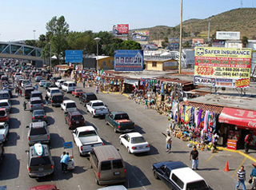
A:
<svg viewBox="0 0 256 190">
<path fill-rule="evenodd" d="M 176 168 L 172 171 L 176 176 L 178 176 L 179 179 L 182 179 L 182 181 L 187 184 L 190 182 L 198 181 L 198 180 L 204 180 L 202 176 L 199 176 L 197 172 L 194 172 L 191 168 Z"/>
</svg>

